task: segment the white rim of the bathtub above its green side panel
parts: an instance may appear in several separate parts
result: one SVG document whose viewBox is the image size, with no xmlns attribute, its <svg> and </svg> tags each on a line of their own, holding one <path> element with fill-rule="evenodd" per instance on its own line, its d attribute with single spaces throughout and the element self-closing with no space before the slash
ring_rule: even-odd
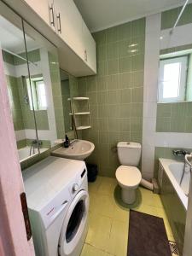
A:
<svg viewBox="0 0 192 256">
<path fill-rule="evenodd" d="M 176 163 L 184 163 L 181 160 L 172 160 L 172 159 L 165 159 L 159 158 L 160 165 L 163 167 L 164 171 L 166 172 L 166 176 L 169 178 L 170 182 L 172 183 L 173 188 L 176 190 L 177 195 L 183 207 L 187 211 L 188 209 L 188 196 L 184 194 L 183 189 L 177 183 L 176 178 L 173 176 L 172 172 L 169 169 L 169 165 L 176 164 Z"/>
</svg>

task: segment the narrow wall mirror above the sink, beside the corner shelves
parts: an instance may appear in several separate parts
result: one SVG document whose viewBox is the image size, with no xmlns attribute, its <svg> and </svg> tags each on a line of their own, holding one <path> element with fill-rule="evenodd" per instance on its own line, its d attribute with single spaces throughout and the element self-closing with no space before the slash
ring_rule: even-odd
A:
<svg viewBox="0 0 192 256">
<path fill-rule="evenodd" d="M 64 125 L 66 133 L 73 130 L 73 117 L 71 113 L 71 89 L 70 89 L 70 79 L 69 75 L 60 69 L 60 77 L 61 77 L 61 95 L 62 95 L 62 106 L 63 106 L 63 115 L 64 115 Z"/>
</svg>

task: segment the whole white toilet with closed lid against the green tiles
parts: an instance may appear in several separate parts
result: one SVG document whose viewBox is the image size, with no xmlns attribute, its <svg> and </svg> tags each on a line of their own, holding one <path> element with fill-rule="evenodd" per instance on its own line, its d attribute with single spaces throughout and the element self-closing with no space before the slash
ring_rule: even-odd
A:
<svg viewBox="0 0 192 256">
<path fill-rule="evenodd" d="M 121 187 L 121 198 L 126 204 L 132 204 L 136 201 L 136 189 L 142 180 L 137 168 L 142 146 L 140 143 L 120 142 L 117 151 L 121 166 L 117 168 L 115 176 Z"/>
</svg>

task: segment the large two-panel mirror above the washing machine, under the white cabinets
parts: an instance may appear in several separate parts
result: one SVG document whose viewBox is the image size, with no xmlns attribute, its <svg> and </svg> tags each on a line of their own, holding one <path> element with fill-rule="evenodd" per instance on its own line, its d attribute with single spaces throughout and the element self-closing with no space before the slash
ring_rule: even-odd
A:
<svg viewBox="0 0 192 256">
<path fill-rule="evenodd" d="M 51 81 L 54 70 L 49 65 L 51 55 L 57 53 L 54 45 L 12 10 L 3 8 L 0 49 L 21 163 L 47 150 L 57 138 Z"/>
</svg>

